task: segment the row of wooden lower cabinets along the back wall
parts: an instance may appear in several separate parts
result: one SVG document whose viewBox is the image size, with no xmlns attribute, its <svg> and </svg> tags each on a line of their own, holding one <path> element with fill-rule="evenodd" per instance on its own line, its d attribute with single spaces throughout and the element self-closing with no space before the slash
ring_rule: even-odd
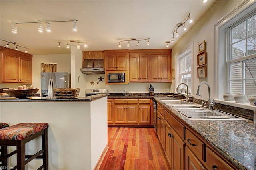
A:
<svg viewBox="0 0 256 170">
<path fill-rule="evenodd" d="M 108 125 L 151 125 L 151 99 L 108 99 Z"/>
</svg>

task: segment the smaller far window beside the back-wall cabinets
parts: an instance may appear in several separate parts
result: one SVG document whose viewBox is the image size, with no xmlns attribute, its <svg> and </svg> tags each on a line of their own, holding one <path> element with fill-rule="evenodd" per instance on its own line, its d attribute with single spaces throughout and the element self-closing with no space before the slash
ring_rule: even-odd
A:
<svg viewBox="0 0 256 170">
<path fill-rule="evenodd" d="M 189 45 L 184 52 L 176 57 L 176 87 L 180 83 L 188 85 L 188 91 L 191 92 L 192 87 L 192 46 Z M 176 88 L 175 87 L 175 88 Z M 180 85 L 180 88 L 185 88 L 185 85 Z"/>
</svg>

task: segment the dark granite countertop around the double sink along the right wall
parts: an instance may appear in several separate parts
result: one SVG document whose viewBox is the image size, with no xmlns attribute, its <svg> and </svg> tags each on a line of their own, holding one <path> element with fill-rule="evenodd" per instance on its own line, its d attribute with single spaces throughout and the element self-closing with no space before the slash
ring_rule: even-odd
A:
<svg viewBox="0 0 256 170">
<path fill-rule="evenodd" d="M 253 121 L 189 120 L 161 102 L 166 97 L 155 98 L 165 109 L 184 125 L 202 136 L 205 143 L 214 148 L 231 164 L 241 170 L 256 170 L 256 129 Z"/>
</svg>

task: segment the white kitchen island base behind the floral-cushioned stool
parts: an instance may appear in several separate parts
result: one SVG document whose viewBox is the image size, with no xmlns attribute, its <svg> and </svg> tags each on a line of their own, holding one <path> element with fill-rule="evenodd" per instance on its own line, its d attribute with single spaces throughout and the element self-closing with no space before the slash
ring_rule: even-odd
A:
<svg viewBox="0 0 256 170">
<path fill-rule="evenodd" d="M 108 146 L 107 96 L 92 101 L 1 101 L 0 106 L 1 122 L 49 123 L 49 170 L 92 170 Z M 40 137 L 28 142 L 26 154 L 37 152 L 40 142 Z M 15 165 L 16 154 L 8 166 Z M 42 160 L 33 160 L 26 169 L 41 165 Z"/>
</svg>

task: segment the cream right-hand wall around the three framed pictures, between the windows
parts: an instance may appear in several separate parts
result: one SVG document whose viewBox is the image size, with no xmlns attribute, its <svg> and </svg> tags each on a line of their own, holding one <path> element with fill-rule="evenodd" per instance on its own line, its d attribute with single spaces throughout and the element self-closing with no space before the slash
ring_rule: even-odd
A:
<svg viewBox="0 0 256 170">
<path fill-rule="evenodd" d="M 236 1 L 216 1 L 216 3 L 204 14 L 202 18 L 198 21 L 195 21 L 194 26 L 188 30 L 188 32 L 180 39 L 175 39 L 178 41 L 174 47 L 172 47 L 172 68 L 175 68 L 175 57 L 180 51 L 184 49 L 188 44 L 194 41 L 194 89 L 192 89 L 192 93 L 196 93 L 197 87 L 200 82 L 207 81 L 211 88 L 212 98 L 214 96 L 214 69 L 216 65 L 214 65 L 214 24 L 220 20 L 223 16 L 225 16 L 228 12 L 230 12 L 233 8 L 235 8 L 238 4 L 240 4 L 240 0 Z M 193 15 L 193 14 L 192 14 Z M 181 29 L 182 30 L 182 29 Z M 206 51 L 207 51 L 207 77 L 206 78 L 197 78 L 197 55 L 198 52 L 198 44 L 203 40 L 206 41 Z M 173 80 L 171 89 L 175 90 L 175 80 Z M 208 88 L 206 85 L 202 85 L 202 99 L 208 100 Z M 199 98 L 199 96 L 195 96 Z"/>
</svg>

